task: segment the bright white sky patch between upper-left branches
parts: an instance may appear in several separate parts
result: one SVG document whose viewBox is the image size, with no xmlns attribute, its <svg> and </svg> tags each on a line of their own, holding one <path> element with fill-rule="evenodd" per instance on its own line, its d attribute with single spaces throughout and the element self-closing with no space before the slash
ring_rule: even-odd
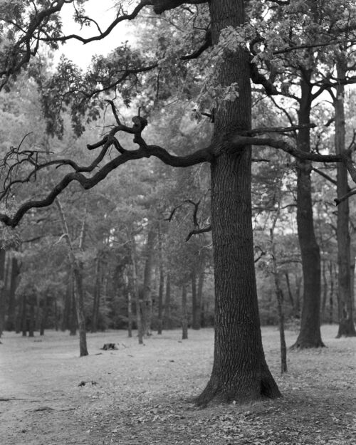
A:
<svg viewBox="0 0 356 445">
<path fill-rule="evenodd" d="M 101 30 L 105 30 L 108 25 L 115 18 L 115 9 L 113 0 L 88 0 L 85 3 L 86 14 L 95 19 L 98 22 Z M 132 11 L 132 6 L 129 11 Z M 80 30 L 78 23 L 73 21 L 73 6 L 68 4 L 63 6 L 61 12 L 61 18 L 63 21 L 63 32 L 67 34 L 76 33 L 83 37 L 91 37 L 98 35 L 98 29 L 95 25 L 85 26 Z M 63 46 L 60 46 L 60 51 L 56 52 L 55 63 L 59 61 L 61 54 L 65 54 L 67 58 L 70 58 L 80 68 L 85 68 L 90 63 L 92 56 L 95 54 L 103 54 L 104 56 L 114 48 L 125 41 L 134 41 L 133 27 L 125 21 L 119 23 L 102 41 L 93 41 L 86 45 L 72 39 L 67 41 Z"/>
</svg>

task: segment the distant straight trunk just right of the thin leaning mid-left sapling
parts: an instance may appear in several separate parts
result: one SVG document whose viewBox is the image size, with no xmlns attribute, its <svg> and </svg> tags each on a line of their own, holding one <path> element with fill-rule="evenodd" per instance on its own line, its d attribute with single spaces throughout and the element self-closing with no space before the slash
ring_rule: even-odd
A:
<svg viewBox="0 0 356 445">
<path fill-rule="evenodd" d="M 155 231 L 153 226 L 147 234 L 146 253 L 145 253 L 145 270 L 143 273 L 143 298 L 142 298 L 142 329 L 144 335 L 151 335 L 152 325 L 152 270 L 153 258 L 155 256 Z"/>
</svg>

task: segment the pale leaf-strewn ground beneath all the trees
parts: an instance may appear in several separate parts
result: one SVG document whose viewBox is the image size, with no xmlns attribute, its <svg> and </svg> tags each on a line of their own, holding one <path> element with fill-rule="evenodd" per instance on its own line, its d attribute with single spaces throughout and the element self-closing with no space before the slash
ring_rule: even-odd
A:
<svg viewBox="0 0 356 445">
<path fill-rule="evenodd" d="M 0 345 L 1 445 L 319 445 L 356 444 L 356 339 L 288 351 L 280 375 L 276 328 L 263 328 L 268 365 L 283 398 L 198 409 L 189 400 L 209 379 L 212 329 L 152 335 L 145 345 L 124 331 L 78 338 L 48 331 L 5 333 Z M 296 333 L 286 332 L 288 345 Z M 115 342 L 118 350 L 103 351 Z M 80 382 L 87 382 L 78 386 Z M 94 383 L 92 383 L 94 382 Z"/>
</svg>

